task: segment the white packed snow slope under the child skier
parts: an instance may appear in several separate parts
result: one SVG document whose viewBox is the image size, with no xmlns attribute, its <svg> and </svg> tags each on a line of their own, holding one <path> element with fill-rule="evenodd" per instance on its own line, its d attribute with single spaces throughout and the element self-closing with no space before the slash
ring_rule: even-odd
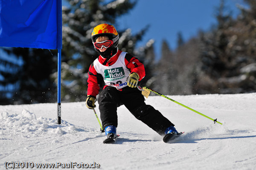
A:
<svg viewBox="0 0 256 170">
<path fill-rule="evenodd" d="M 146 104 L 185 133 L 164 143 L 121 106 L 120 137 L 116 144 L 103 144 L 105 134 L 85 102 L 62 103 L 61 125 L 56 124 L 57 104 L 0 106 L 0 169 L 6 161 L 16 161 L 95 162 L 102 170 L 256 170 L 256 93 L 168 97 L 223 125 L 166 98 L 149 96 Z"/>
</svg>

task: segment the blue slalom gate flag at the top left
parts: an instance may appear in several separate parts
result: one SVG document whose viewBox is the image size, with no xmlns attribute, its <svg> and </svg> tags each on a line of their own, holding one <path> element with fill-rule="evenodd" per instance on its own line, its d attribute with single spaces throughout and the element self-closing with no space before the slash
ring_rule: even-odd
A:
<svg viewBox="0 0 256 170">
<path fill-rule="evenodd" d="M 61 49 L 61 0 L 0 0 L 0 46 Z"/>
</svg>

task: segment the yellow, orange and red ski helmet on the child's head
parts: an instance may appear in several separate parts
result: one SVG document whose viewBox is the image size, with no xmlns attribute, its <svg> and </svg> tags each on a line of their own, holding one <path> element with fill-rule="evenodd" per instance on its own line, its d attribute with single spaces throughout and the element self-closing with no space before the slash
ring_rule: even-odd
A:
<svg viewBox="0 0 256 170">
<path fill-rule="evenodd" d="M 93 43 L 95 43 L 96 39 L 100 36 L 108 36 L 110 40 L 113 40 L 113 47 L 117 47 L 119 35 L 114 26 L 107 23 L 102 23 L 94 27 L 91 35 Z"/>
</svg>

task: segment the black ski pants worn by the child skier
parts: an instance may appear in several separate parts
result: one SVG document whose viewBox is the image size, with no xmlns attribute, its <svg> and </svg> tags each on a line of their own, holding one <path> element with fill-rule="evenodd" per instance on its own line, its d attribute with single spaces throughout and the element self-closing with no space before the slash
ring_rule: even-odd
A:
<svg viewBox="0 0 256 170">
<path fill-rule="evenodd" d="M 103 129 L 113 125 L 117 127 L 117 107 L 122 104 L 140 121 L 147 124 L 160 135 L 164 135 L 166 128 L 174 126 L 158 110 L 146 105 L 144 96 L 137 88 L 124 87 L 122 91 L 107 86 L 99 95 L 99 110 Z"/>
</svg>

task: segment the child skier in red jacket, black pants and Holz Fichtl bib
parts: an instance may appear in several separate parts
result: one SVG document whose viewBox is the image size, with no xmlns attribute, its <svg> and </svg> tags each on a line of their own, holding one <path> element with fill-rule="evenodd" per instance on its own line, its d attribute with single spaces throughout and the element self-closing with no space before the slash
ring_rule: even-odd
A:
<svg viewBox="0 0 256 170">
<path fill-rule="evenodd" d="M 92 42 L 99 57 L 90 65 L 86 106 L 96 107 L 100 84 L 105 85 L 98 97 L 100 118 L 105 135 L 116 138 L 117 107 L 122 104 L 140 121 L 160 135 L 177 134 L 174 124 L 151 105 L 145 104 L 137 84 L 145 77 L 144 65 L 134 56 L 117 48 L 119 34 L 110 24 L 93 29 Z"/>
</svg>

